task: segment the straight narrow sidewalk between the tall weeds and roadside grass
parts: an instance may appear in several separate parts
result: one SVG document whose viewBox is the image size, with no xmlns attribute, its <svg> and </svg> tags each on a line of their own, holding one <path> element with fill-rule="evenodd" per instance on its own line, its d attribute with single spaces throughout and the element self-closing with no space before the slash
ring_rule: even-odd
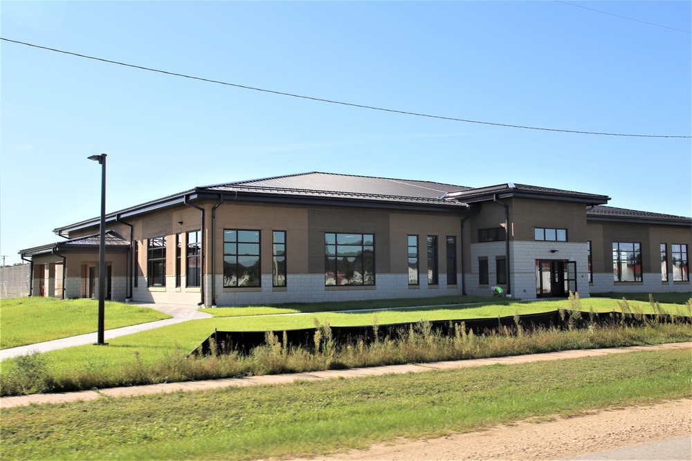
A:
<svg viewBox="0 0 692 461">
<path fill-rule="evenodd" d="M 156 322 L 153 322 L 156 323 Z M 154 327 L 152 327 L 154 328 Z M 630 348 L 612 349 L 588 349 L 588 350 L 563 350 L 561 352 L 548 352 L 545 354 L 519 355 L 515 357 L 496 357 L 492 359 L 473 359 L 459 361 L 439 361 L 430 364 L 407 364 L 392 366 L 376 366 L 372 368 L 351 368 L 347 370 L 325 370 L 311 373 L 289 373 L 286 375 L 264 375 L 244 378 L 211 379 L 198 382 L 179 382 L 165 384 L 150 384 L 148 386 L 131 386 L 120 388 L 108 388 L 100 391 L 81 391 L 57 394 L 34 394 L 17 397 L 0 398 L 0 408 L 13 406 L 25 406 L 29 404 L 57 404 L 62 402 L 77 402 L 95 400 L 101 397 L 130 397 L 133 395 L 147 395 L 155 393 L 192 392 L 204 389 L 216 389 L 224 387 L 261 386 L 267 384 L 288 384 L 296 380 L 320 381 L 322 379 L 354 378 L 364 376 L 388 375 L 392 373 L 419 373 L 429 370 L 452 370 L 472 366 L 484 366 L 493 364 L 527 364 L 536 361 L 549 361 L 561 359 L 575 359 L 580 357 L 594 357 L 597 355 L 621 354 L 634 352 L 635 350 L 666 350 L 666 349 L 692 349 L 692 342 L 662 344 L 659 346 L 634 346 Z"/>
</svg>

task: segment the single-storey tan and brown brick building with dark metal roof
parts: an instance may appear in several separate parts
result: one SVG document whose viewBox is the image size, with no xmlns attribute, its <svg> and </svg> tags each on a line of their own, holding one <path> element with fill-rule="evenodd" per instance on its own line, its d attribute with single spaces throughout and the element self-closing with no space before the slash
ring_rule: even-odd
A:
<svg viewBox="0 0 692 461">
<path fill-rule="evenodd" d="M 186 305 L 690 292 L 692 219 L 597 194 L 304 173 L 106 216 L 108 299 Z M 20 252 L 32 294 L 96 297 L 99 218 Z"/>
</svg>

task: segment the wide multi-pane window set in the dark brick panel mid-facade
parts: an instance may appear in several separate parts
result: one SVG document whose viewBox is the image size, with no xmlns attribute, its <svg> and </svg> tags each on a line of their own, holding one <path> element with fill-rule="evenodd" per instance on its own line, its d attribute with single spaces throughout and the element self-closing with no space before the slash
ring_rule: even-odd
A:
<svg viewBox="0 0 692 461">
<path fill-rule="evenodd" d="M 374 284 L 374 235 L 325 233 L 325 285 Z"/>
</svg>

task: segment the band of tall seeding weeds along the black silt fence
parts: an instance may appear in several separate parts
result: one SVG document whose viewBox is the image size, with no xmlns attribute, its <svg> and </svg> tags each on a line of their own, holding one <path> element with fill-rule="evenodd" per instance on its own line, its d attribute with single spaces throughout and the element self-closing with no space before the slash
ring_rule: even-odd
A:
<svg viewBox="0 0 692 461">
<path fill-rule="evenodd" d="M 576 299 L 574 302 L 578 302 Z M 623 301 L 626 303 L 626 301 Z M 689 304 L 690 305 L 690 304 Z M 289 346 L 286 333 L 281 339 L 271 332 L 265 343 L 249 354 L 237 351 L 219 353 L 215 346 L 206 356 L 190 355 L 179 348 L 171 350 L 155 364 L 143 364 L 138 352 L 127 366 L 108 368 L 90 366 L 54 372 L 40 354 L 3 361 L 0 374 L 1 395 L 78 391 L 113 386 L 133 386 L 161 382 L 217 379 L 295 373 L 330 368 L 358 368 L 390 364 L 422 363 L 484 357 L 552 352 L 579 348 L 608 348 L 691 341 L 688 323 L 648 322 L 642 326 L 623 327 L 619 323 L 599 326 L 590 321 L 588 328 L 574 328 L 576 312 L 565 313 L 567 329 L 556 327 L 528 330 L 515 317 L 515 328 L 502 328 L 492 334 L 476 335 L 464 322 L 450 325 L 442 335 L 429 322 L 421 321 L 397 335 L 382 335 L 374 325 L 374 338 L 355 338 L 338 344 L 326 321 L 316 321 L 313 344 Z M 581 318 L 581 317 L 580 317 Z M 374 319 L 376 321 L 376 319 Z M 590 319 L 591 320 L 591 319 Z"/>
</svg>

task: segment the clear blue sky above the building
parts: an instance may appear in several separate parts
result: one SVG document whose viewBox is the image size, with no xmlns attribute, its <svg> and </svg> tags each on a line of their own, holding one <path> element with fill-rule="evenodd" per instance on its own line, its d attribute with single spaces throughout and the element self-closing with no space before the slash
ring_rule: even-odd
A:
<svg viewBox="0 0 692 461">
<path fill-rule="evenodd" d="M 690 1 L 4 1 L 1 36 L 479 122 L 690 136 Z M 599 11 L 594 11 L 599 10 Z M 325 171 L 503 182 L 692 215 L 689 138 L 372 111 L 2 41 L 0 254 L 195 186 Z"/>
</svg>

